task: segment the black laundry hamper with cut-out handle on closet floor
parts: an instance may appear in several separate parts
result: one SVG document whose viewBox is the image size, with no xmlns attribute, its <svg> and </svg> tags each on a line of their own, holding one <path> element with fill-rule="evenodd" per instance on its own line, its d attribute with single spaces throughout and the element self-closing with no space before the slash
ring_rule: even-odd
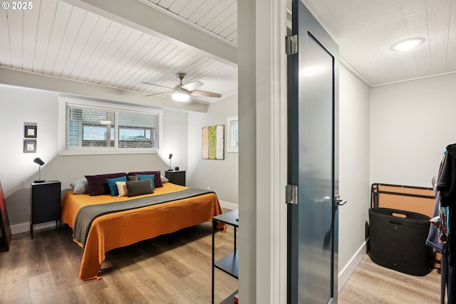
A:
<svg viewBox="0 0 456 304">
<path fill-rule="evenodd" d="M 430 217 L 390 208 L 369 209 L 371 260 L 383 267 L 425 276 L 430 272 L 426 246 Z"/>
</svg>

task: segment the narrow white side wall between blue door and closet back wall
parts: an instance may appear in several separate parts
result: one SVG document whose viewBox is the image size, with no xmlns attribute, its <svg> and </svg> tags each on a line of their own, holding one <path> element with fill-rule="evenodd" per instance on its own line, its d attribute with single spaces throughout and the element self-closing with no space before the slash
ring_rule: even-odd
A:
<svg viewBox="0 0 456 304">
<path fill-rule="evenodd" d="M 339 68 L 339 207 L 338 289 L 366 253 L 369 184 L 369 88 L 346 68 Z"/>
</svg>

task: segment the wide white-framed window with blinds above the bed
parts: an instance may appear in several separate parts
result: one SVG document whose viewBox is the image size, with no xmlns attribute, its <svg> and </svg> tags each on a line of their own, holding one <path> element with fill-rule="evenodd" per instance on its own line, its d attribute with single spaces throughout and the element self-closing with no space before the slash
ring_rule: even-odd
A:
<svg viewBox="0 0 456 304">
<path fill-rule="evenodd" d="M 60 154 L 144 153 L 159 147 L 159 110 L 61 98 L 61 117 Z"/>
</svg>

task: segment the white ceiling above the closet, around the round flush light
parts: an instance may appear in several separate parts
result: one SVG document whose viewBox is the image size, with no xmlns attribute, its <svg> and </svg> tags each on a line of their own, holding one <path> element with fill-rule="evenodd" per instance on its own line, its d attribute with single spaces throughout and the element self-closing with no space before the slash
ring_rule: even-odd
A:
<svg viewBox="0 0 456 304">
<path fill-rule="evenodd" d="M 339 45 L 339 55 L 370 85 L 456 71 L 455 0 L 304 0 Z M 391 51 L 406 38 L 425 42 Z"/>
</svg>

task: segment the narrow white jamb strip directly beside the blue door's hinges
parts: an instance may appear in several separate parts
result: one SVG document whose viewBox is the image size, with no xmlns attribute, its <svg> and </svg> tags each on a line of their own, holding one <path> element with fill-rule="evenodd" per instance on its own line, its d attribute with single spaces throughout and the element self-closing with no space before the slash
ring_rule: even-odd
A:
<svg viewBox="0 0 456 304">
<path fill-rule="evenodd" d="M 287 34 L 288 16 L 284 1 L 272 3 L 271 46 L 271 159 L 273 161 L 272 184 L 275 191 L 271 201 L 271 303 L 286 303 L 287 285 L 287 208 L 284 204 L 287 182 L 287 56 L 284 36 Z"/>
</svg>

